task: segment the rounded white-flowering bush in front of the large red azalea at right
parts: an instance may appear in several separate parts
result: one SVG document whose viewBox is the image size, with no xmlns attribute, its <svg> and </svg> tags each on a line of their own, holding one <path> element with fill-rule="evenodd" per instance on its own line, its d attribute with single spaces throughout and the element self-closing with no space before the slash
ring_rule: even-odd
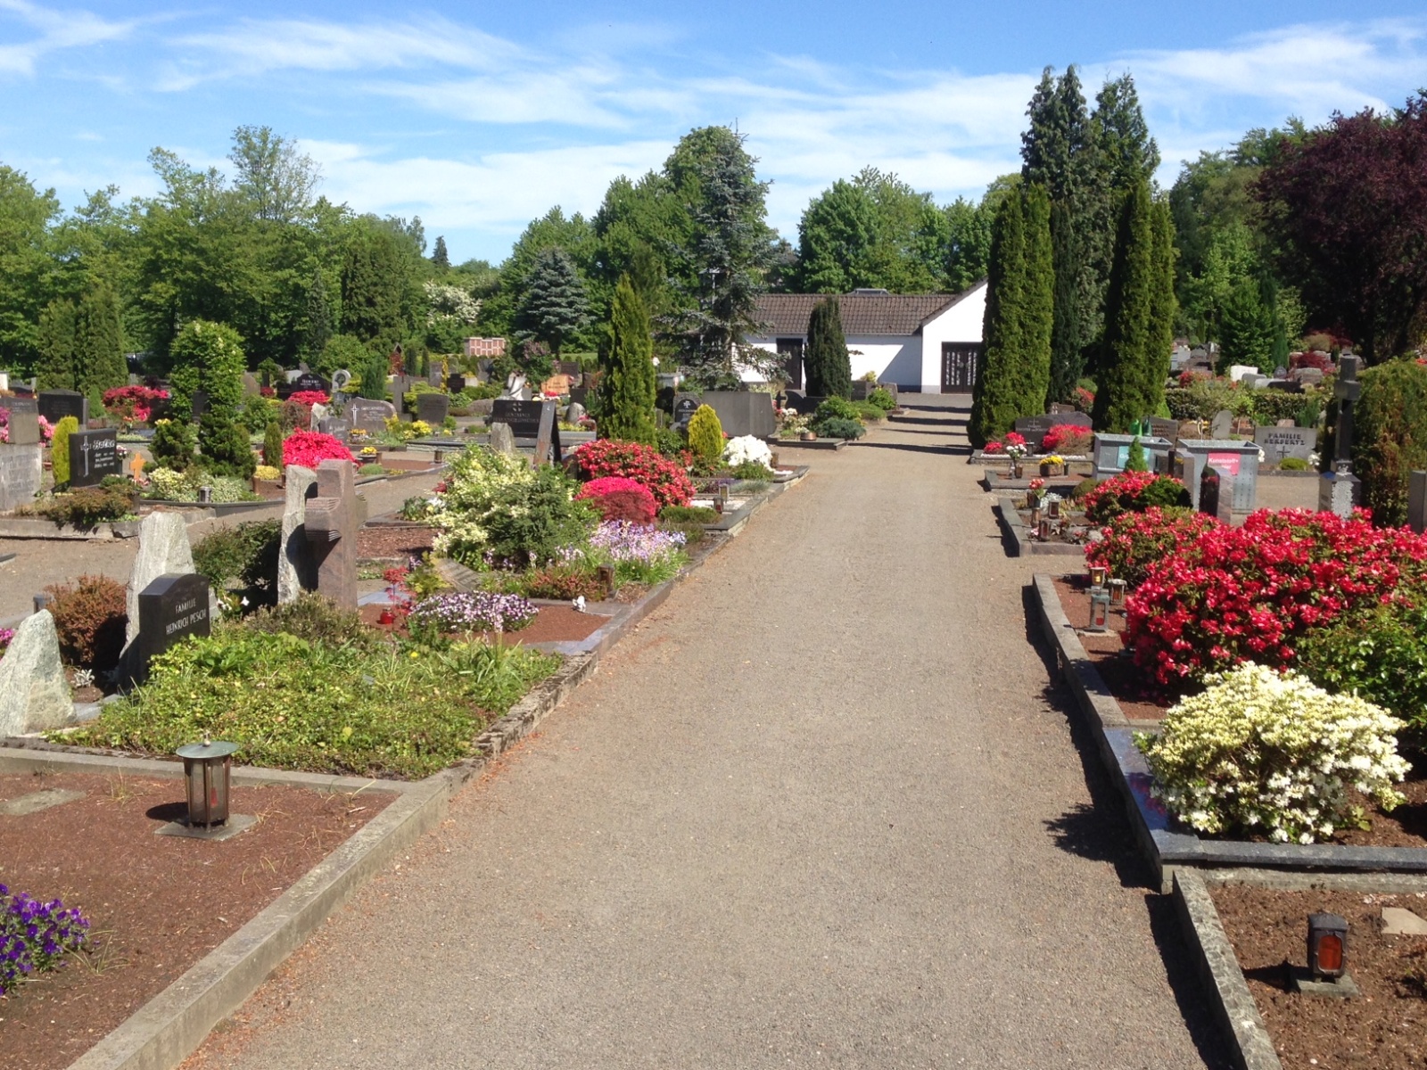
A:
<svg viewBox="0 0 1427 1070">
<path fill-rule="evenodd" d="M 1403 802 L 1393 789 L 1408 769 L 1394 735 L 1403 722 L 1387 710 L 1251 662 L 1204 681 L 1157 736 L 1134 738 L 1156 798 L 1186 825 L 1313 843 L 1350 817 L 1350 788 L 1384 810 Z"/>
</svg>

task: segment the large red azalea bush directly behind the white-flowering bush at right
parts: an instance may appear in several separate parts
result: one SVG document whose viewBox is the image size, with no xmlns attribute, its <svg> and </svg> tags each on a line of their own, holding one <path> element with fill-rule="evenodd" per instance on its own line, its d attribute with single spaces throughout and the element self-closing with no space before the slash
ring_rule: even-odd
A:
<svg viewBox="0 0 1427 1070">
<path fill-rule="evenodd" d="M 1163 688 L 1253 661 L 1293 665 L 1294 642 L 1344 612 L 1390 601 L 1427 572 L 1427 536 L 1367 512 L 1260 509 L 1152 562 L 1130 595 L 1126 645 Z"/>
</svg>

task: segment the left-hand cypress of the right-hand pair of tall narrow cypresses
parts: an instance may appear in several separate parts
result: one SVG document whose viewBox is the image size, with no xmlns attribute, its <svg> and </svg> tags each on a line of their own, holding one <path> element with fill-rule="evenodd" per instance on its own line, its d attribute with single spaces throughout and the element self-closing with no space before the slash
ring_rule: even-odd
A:
<svg viewBox="0 0 1427 1070">
<path fill-rule="evenodd" d="M 1154 260 L 1154 231 L 1149 183 L 1142 180 L 1123 198 L 1114 235 L 1114 263 L 1104 305 L 1104 352 L 1093 411 L 1095 425 L 1102 431 L 1126 432 L 1130 424 L 1157 408 L 1150 387 L 1152 370 L 1159 364 L 1154 348 L 1160 337 L 1154 325 L 1162 275 Z"/>
</svg>

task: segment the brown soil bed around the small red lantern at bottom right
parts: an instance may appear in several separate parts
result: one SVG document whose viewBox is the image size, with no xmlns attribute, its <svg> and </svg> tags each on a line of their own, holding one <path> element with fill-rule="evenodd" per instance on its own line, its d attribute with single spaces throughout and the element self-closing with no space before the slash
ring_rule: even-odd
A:
<svg viewBox="0 0 1427 1070">
<path fill-rule="evenodd" d="M 1383 936 L 1381 910 L 1400 906 L 1427 917 L 1423 893 L 1276 892 L 1226 885 L 1210 889 L 1284 1070 L 1427 1066 L 1427 937 Z M 1289 967 L 1306 964 L 1310 913 L 1349 922 L 1347 967 L 1361 997 L 1300 996 Z"/>
</svg>

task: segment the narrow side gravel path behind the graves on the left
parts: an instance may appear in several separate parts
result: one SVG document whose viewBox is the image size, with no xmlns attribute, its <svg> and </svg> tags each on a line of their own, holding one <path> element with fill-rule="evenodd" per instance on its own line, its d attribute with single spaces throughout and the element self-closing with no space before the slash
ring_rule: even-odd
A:
<svg viewBox="0 0 1427 1070">
<path fill-rule="evenodd" d="M 401 506 L 407 498 L 435 486 L 437 475 L 414 477 L 395 482 L 368 484 L 362 488 L 367 509 L 375 516 Z M 188 525 L 188 538 L 197 542 L 210 531 L 243 521 L 283 516 L 281 502 L 271 509 L 231 516 L 224 521 L 200 521 Z M 16 556 L 0 564 L 0 623 L 33 611 L 34 595 L 50 584 L 67 584 L 81 575 L 113 576 L 128 581 L 128 569 L 138 552 L 137 539 L 106 542 L 78 542 L 60 539 L 4 539 L 0 538 L 0 558 Z"/>
</svg>

